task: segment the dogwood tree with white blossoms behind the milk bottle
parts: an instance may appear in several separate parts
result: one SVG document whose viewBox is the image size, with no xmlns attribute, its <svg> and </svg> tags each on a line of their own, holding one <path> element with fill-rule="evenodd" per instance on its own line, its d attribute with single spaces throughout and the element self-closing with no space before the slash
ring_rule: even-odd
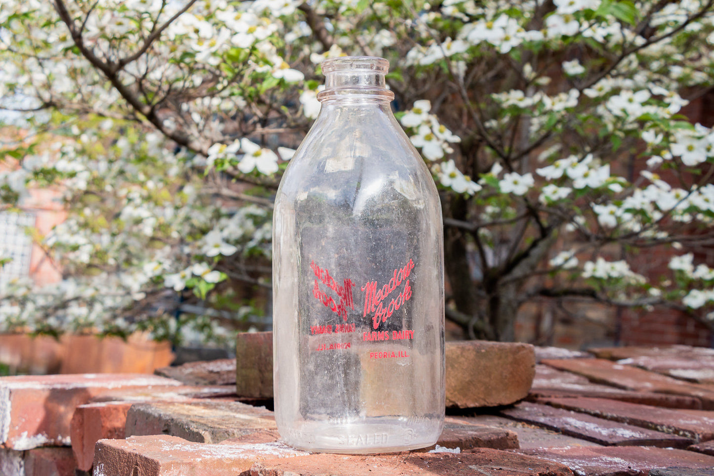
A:
<svg viewBox="0 0 714 476">
<path fill-rule="evenodd" d="M 713 51 L 714 0 L 3 0 L 0 106 L 27 134 L 2 197 L 58 187 L 69 218 L 37 237 L 65 279 L 6 284 L 0 318 L 168 335 L 181 302 L 269 288 L 319 65 L 363 54 L 441 190 L 449 319 L 513 339 L 524 304 L 589 299 L 714 329 L 714 133 L 681 114 Z"/>
</svg>

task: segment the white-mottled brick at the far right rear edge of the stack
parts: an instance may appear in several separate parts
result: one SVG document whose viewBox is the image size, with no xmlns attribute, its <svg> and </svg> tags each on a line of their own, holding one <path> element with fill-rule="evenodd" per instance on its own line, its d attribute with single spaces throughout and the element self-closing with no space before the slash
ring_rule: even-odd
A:
<svg viewBox="0 0 714 476">
<path fill-rule="evenodd" d="M 714 349 L 672 345 L 665 347 L 605 347 L 590 349 L 598 357 L 622 360 L 635 365 L 691 382 L 714 384 Z"/>
</svg>

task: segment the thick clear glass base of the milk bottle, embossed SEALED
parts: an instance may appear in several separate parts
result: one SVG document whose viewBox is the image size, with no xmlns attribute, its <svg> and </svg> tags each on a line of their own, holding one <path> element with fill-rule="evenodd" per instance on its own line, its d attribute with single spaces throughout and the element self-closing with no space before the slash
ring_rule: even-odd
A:
<svg viewBox="0 0 714 476">
<path fill-rule="evenodd" d="M 424 417 L 374 417 L 340 424 L 326 421 L 297 422 L 285 431 L 280 426 L 278 430 L 283 439 L 298 450 L 367 455 L 417 450 L 434 445 L 441 435 L 443 421 Z"/>
</svg>

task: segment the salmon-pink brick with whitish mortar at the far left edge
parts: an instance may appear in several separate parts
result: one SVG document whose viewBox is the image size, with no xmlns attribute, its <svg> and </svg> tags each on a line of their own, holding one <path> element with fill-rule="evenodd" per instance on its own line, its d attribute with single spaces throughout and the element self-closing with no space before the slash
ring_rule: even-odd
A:
<svg viewBox="0 0 714 476">
<path fill-rule="evenodd" d="M 136 374 L 0 377 L 0 443 L 14 450 L 70 445 L 74 409 L 106 390 L 180 382 Z"/>
</svg>

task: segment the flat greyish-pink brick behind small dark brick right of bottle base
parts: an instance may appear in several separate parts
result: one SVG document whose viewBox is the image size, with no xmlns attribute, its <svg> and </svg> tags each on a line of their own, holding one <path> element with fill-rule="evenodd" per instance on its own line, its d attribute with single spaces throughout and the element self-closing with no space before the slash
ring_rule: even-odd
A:
<svg viewBox="0 0 714 476">
<path fill-rule="evenodd" d="M 471 425 L 487 425 L 489 427 L 501 428 L 516 433 L 518 435 L 518 446 L 521 448 L 540 448 L 551 446 L 598 446 L 580 438 L 562 435 L 551 430 L 544 430 L 528 423 L 510 420 L 498 415 L 475 415 L 473 417 L 446 417 L 446 421 L 458 421 Z M 440 443 L 441 445 L 441 443 Z M 441 445 L 444 446 L 444 445 Z"/>
</svg>

